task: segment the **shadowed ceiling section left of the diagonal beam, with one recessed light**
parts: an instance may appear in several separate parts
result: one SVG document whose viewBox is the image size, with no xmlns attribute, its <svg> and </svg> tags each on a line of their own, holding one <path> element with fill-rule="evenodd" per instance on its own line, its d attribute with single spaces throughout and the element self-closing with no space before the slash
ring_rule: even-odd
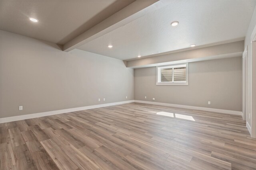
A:
<svg viewBox="0 0 256 170">
<path fill-rule="evenodd" d="M 134 0 L 0 0 L 0 29 L 65 44 Z M 28 17 L 39 20 L 32 23 Z"/>
</svg>

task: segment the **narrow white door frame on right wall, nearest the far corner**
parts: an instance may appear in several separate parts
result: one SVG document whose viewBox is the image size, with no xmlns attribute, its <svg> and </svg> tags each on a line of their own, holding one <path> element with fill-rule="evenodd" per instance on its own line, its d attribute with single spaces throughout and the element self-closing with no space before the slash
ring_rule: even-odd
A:
<svg viewBox="0 0 256 170">
<path fill-rule="evenodd" d="M 242 117 L 244 120 L 246 120 L 246 113 L 247 113 L 247 56 L 248 56 L 248 46 L 246 46 L 246 48 L 244 49 L 244 53 L 243 53 L 243 61 L 242 61 L 242 76 L 243 76 L 243 89 L 242 89 L 242 92 L 243 92 L 243 104 L 242 104 Z"/>
</svg>

